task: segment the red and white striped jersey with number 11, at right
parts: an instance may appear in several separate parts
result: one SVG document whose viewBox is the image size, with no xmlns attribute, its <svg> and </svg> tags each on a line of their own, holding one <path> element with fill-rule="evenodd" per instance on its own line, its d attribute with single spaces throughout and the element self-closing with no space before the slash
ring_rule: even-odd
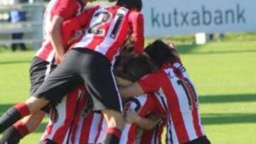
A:
<svg viewBox="0 0 256 144">
<path fill-rule="evenodd" d="M 166 112 L 166 143 L 186 143 L 205 135 L 196 90 L 181 63 L 166 64 L 142 77 L 139 84 L 145 93 L 156 94 Z"/>
</svg>

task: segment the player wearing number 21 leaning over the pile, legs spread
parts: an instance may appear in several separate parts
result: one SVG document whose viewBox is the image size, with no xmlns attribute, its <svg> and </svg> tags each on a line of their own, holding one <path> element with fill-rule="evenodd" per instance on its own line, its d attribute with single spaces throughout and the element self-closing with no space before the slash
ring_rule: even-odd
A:
<svg viewBox="0 0 256 144">
<path fill-rule="evenodd" d="M 0 118 L 0 131 L 23 116 L 34 113 L 50 101 L 58 103 L 70 89 L 85 83 L 94 109 L 107 121 L 105 143 L 119 143 L 124 126 L 122 102 L 112 74 L 112 63 L 132 31 L 134 51 L 144 52 L 142 1 L 119 0 L 116 6 L 95 6 L 66 23 L 66 30 L 79 29 L 88 23 L 63 62 L 50 74 L 26 102 L 17 104 Z M 73 30 L 74 31 L 74 30 Z"/>
</svg>

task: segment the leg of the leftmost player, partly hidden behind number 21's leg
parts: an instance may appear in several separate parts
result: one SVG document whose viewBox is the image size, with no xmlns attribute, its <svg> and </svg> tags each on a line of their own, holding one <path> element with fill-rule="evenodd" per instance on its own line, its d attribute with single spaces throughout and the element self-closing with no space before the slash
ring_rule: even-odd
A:
<svg viewBox="0 0 256 144">
<path fill-rule="evenodd" d="M 54 70 L 55 67 L 56 65 L 53 65 L 50 62 L 46 62 L 45 60 L 41 60 L 39 57 L 33 58 L 29 70 L 29 76 L 31 81 L 31 94 L 36 92 L 38 87 L 40 87 L 48 74 L 50 74 L 50 72 Z M 34 131 L 41 123 L 43 116 L 45 116 L 45 110 L 46 109 L 43 109 L 43 111 L 38 111 L 37 113 L 34 113 L 34 116 L 26 116 L 21 121 L 15 123 L 14 126 L 11 126 L 11 128 L 3 133 L 3 136 L 0 139 L 0 144 L 18 143 L 21 138 Z"/>
</svg>

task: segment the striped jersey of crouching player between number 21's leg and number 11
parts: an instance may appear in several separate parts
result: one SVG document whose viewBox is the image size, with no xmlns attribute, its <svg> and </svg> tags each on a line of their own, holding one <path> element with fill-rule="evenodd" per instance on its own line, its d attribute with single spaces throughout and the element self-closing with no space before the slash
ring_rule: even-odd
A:
<svg viewBox="0 0 256 144">
<path fill-rule="evenodd" d="M 124 111 L 137 111 L 139 116 L 145 117 L 152 113 L 159 113 L 159 103 L 156 96 L 140 95 L 133 97 L 124 103 Z M 139 143 L 142 133 L 137 133 L 139 127 L 135 123 L 126 123 L 119 143 L 133 144 Z"/>
</svg>

